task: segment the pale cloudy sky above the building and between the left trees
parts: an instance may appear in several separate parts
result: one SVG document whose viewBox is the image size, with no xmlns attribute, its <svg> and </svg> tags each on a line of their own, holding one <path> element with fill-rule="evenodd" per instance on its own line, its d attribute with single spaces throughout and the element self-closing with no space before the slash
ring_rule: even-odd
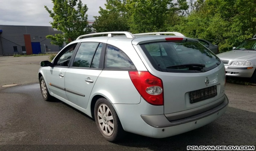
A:
<svg viewBox="0 0 256 151">
<path fill-rule="evenodd" d="M 82 0 L 87 4 L 88 19 L 98 16 L 99 7 L 105 8 L 105 0 Z M 39 25 L 50 26 L 52 18 L 44 9 L 52 8 L 51 0 L 1 0 L 0 25 Z"/>
</svg>

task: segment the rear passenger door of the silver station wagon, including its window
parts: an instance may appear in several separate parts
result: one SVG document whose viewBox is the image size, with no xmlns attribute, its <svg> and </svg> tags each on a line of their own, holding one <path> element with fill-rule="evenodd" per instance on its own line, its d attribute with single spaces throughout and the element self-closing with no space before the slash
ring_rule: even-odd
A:
<svg viewBox="0 0 256 151">
<path fill-rule="evenodd" d="M 68 101 L 86 109 L 92 88 L 102 72 L 106 44 L 82 42 L 65 74 Z"/>
</svg>

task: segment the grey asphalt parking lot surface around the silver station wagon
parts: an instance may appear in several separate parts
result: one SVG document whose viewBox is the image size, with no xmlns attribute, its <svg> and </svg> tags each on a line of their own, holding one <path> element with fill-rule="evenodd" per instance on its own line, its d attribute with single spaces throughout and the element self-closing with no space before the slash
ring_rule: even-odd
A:
<svg viewBox="0 0 256 151">
<path fill-rule="evenodd" d="M 3 68 L 0 57 L 0 85 L 14 79 L 21 84 L 0 90 L 0 150 L 186 150 L 188 145 L 256 144 L 256 86 L 227 83 L 228 111 L 196 130 L 164 139 L 129 133 L 111 143 L 103 139 L 94 119 L 59 100 L 44 101 L 37 71 L 39 60 L 47 56 L 34 57 L 19 65 L 22 69 L 8 63 Z M 16 69 L 28 77 L 12 77 Z"/>
</svg>

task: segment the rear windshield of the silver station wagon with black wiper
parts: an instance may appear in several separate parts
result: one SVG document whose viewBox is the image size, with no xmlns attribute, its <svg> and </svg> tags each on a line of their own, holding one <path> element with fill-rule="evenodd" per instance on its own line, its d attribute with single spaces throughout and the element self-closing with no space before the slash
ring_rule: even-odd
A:
<svg viewBox="0 0 256 151">
<path fill-rule="evenodd" d="M 220 59 L 196 41 L 164 41 L 141 44 L 152 66 L 162 72 L 206 72 L 220 65 Z"/>
</svg>

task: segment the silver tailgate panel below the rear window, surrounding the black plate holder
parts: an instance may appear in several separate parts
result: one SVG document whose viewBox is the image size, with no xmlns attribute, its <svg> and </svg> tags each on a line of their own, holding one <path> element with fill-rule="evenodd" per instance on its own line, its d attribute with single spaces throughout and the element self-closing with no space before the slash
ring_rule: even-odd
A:
<svg viewBox="0 0 256 151">
<path fill-rule="evenodd" d="M 203 73 L 152 73 L 163 81 L 164 114 L 185 111 L 211 103 L 224 95 L 225 68 L 222 65 Z M 206 86 L 206 77 L 209 80 Z M 190 92 L 217 87 L 217 96 L 196 103 L 190 102 Z M 204 92 L 205 93 L 205 92 Z"/>
</svg>

